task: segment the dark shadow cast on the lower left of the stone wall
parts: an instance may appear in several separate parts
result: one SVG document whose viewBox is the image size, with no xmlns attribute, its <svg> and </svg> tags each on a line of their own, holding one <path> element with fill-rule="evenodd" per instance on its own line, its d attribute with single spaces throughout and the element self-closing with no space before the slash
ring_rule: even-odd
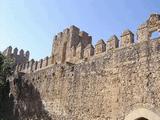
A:
<svg viewBox="0 0 160 120">
<path fill-rule="evenodd" d="M 40 93 L 22 76 L 19 74 L 11 83 L 11 93 L 14 96 L 13 115 L 17 120 L 51 120 L 44 109 Z"/>
</svg>

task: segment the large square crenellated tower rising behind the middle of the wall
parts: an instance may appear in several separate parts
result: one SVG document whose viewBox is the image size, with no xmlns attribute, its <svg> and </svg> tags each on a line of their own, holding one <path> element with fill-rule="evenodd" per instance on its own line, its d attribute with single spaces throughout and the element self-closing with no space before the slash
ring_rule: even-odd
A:
<svg viewBox="0 0 160 120">
<path fill-rule="evenodd" d="M 84 49 L 88 44 L 91 44 L 91 42 L 91 36 L 84 31 L 80 31 L 76 26 L 65 29 L 54 37 L 51 54 L 52 63 L 74 63 L 77 56 L 76 49 L 78 45 L 81 44 L 82 49 Z M 83 50 L 81 50 L 81 52 L 83 55 Z"/>
</svg>

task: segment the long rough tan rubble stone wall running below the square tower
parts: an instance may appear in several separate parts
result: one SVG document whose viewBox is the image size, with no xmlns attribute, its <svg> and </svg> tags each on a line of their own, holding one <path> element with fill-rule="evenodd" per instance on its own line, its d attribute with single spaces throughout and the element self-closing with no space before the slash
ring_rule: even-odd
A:
<svg viewBox="0 0 160 120">
<path fill-rule="evenodd" d="M 147 26 L 153 23 L 156 26 L 147 27 L 147 35 L 151 29 L 158 30 L 159 20 L 157 15 L 150 17 Z M 41 60 L 41 65 L 37 63 L 40 69 L 18 71 L 24 73 L 20 78 L 23 87 L 19 91 L 13 77 L 11 93 L 17 96 L 19 91 L 27 97 L 15 97 L 15 106 L 19 106 L 15 107 L 18 109 L 16 114 L 25 116 L 26 120 L 36 120 L 43 108 L 49 116 L 45 114 L 44 119 L 52 120 L 159 120 L 160 38 L 146 39 L 146 32 L 139 31 L 138 35 L 143 35 L 133 43 L 133 33 L 125 31 L 126 39 L 123 38 L 121 47 L 117 47 L 118 38 L 115 36 L 109 41 L 112 47 L 107 49 L 101 41 L 99 43 L 103 46 L 98 44 L 101 53 L 96 49 L 96 54 L 78 63 L 66 61 L 48 65 Z M 87 50 L 94 50 L 92 45 L 88 45 Z M 49 59 L 52 57 L 45 61 Z M 34 89 L 25 87 L 23 83 Z M 39 104 L 41 108 L 35 107 Z"/>
</svg>

